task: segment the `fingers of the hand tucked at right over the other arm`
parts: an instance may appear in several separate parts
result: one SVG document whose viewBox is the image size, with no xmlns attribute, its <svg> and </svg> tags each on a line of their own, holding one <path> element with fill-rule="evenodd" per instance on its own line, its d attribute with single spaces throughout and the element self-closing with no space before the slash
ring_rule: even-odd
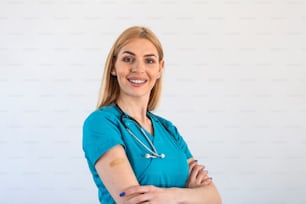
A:
<svg viewBox="0 0 306 204">
<path fill-rule="evenodd" d="M 194 188 L 203 185 L 209 185 L 212 178 L 208 176 L 205 166 L 199 165 L 196 160 L 189 163 L 189 177 L 186 182 L 187 188 Z"/>
</svg>

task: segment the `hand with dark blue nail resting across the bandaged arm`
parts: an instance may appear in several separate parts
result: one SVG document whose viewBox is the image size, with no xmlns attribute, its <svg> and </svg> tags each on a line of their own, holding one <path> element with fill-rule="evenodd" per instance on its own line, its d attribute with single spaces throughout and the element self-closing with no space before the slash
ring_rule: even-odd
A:
<svg viewBox="0 0 306 204">
<path fill-rule="evenodd" d="M 155 186 L 132 186 L 120 194 L 126 198 L 125 204 L 175 204 L 175 192 L 172 188 Z"/>
</svg>

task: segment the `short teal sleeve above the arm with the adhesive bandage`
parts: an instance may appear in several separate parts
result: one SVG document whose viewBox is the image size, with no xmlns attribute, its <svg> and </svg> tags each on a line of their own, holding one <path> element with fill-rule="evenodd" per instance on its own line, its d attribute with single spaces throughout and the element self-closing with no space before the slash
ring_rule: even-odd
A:
<svg viewBox="0 0 306 204">
<path fill-rule="evenodd" d="M 90 114 L 83 125 L 83 150 L 87 160 L 95 165 L 97 160 L 109 149 L 123 145 L 116 119 L 102 111 Z"/>
</svg>

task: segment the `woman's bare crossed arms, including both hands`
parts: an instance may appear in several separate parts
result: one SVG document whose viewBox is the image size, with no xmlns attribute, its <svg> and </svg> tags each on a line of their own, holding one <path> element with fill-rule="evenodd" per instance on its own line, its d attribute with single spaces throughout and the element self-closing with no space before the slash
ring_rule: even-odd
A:
<svg viewBox="0 0 306 204">
<path fill-rule="evenodd" d="M 95 168 L 118 204 L 221 204 L 219 193 L 204 167 L 193 159 L 188 163 L 190 173 L 185 188 L 140 186 L 121 145 L 106 152 Z"/>
</svg>

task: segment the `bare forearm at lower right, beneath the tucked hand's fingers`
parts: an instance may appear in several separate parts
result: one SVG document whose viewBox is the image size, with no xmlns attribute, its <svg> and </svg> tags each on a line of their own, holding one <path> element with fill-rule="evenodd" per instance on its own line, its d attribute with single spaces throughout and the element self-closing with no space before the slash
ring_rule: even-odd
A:
<svg viewBox="0 0 306 204">
<path fill-rule="evenodd" d="M 173 191 L 179 204 L 221 204 L 214 183 L 196 188 L 174 188 Z"/>
</svg>

